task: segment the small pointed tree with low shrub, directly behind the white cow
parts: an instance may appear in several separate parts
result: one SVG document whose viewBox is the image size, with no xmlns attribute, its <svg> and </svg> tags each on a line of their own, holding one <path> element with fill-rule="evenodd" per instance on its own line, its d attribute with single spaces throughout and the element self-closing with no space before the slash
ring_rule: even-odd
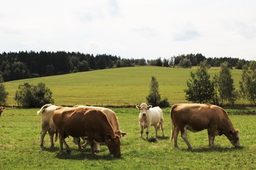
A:
<svg viewBox="0 0 256 170">
<path fill-rule="evenodd" d="M 152 106 L 169 107 L 170 104 L 167 98 L 161 100 L 161 95 L 159 94 L 159 84 L 155 77 L 151 77 L 151 83 L 149 85 L 149 96 L 146 97 L 146 101 Z"/>
</svg>

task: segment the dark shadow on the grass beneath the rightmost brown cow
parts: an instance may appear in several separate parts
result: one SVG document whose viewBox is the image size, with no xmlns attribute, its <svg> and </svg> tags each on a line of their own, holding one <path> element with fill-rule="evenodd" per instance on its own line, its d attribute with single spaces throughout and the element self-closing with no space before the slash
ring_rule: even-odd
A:
<svg viewBox="0 0 256 170">
<path fill-rule="evenodd" d="M 236 151 L 242 150 L 243 147 L 202 147 L 196 149 L 181 149 L 185 152 L 192 152 L 192 153 L 203 153 L 203 152 L 228 152 L 228 151 Z"/>
</svg>

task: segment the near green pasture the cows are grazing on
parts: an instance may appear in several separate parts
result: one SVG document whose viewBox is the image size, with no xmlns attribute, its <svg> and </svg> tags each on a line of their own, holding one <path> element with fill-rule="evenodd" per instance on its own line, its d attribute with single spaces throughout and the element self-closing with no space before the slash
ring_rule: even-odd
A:
<svg viewBox="0 0 256 170">
<path fill-rule="evenodd" d="M 67 139 L 72 149 L 70 154 L 60 154 L 58 142 L 49 149 L 48 135 L 45 148 L 41 149 L 38 109 L 6 108 L 0 118 L 0 169 L 256 169 L 255 115 L 230 115 L 233 125 L 240 130 L 240 149 L 233 147 L 225 136 L 215 137 L 216 147 L 208 148 L 204 130 L 188 132 L 193 147 L 188 150 L 180 135 L 179 149 L 169 142 L 170 108 L 164 109 L 166 137 L 159 142 L 140 139 L 137 109 L 112 109 L 121 129 L 128 132 L 121 139 L 121 158 L 110 157 L 105 145 L 101 145 L 102 151 L 95 156 L 90 155 L 88 147 L 80 152 L 71 137 Z M 149 137 L 154 137 L 154 128 L 149 130 Z"/>
</svg>

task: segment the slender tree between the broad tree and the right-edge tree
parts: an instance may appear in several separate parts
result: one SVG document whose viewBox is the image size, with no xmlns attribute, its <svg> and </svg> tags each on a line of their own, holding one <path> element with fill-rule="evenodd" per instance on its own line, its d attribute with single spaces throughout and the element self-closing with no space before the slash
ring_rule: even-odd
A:
<svg viewBox="0 0 256 170">
<path fill-rule="evenodd" d="M 228 101 L 228 103 L 234 105 L 236 100 L 235 86 L 230 69 L 228 69 L 228 62 L 220 64 L 220 73 L 217 84 L 218 92 L 220 94 L 220 105 L 223 105 L 223 101 Z"/>
</svg>

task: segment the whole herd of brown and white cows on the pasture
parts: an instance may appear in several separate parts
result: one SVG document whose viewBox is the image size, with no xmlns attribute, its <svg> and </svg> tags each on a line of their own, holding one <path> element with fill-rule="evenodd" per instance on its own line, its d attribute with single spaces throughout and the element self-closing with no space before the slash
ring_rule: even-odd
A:
<svg viewBox="0 0 256 170">
<path fill-rule="evenodd" d="M 164 115 L 159 107 L 152 108 L 151 105 L 142 103 L 136 106 L 139 109 L 139 126 L 141 128 L 141 137 L 146 129 L 146 139 L 148 139 L 149 128 L 154 126 L 156 138 L 161 128 L 164 136 Z M 0 116 L 4 107 L 0 106 Z M 63 152 L 63 143 L 66 151 L 70 152 L 70 147 L 65 142 L 69 135 L 78 142 L 78 149 L 86 147 L 89 143 L 91 153 L 100 151 L 99 142 L 105 142 L 110 154 L 114 157 L 120 157 L 119 138 L 127 135 L 119 128 L 117 115 L 109 108 L 94 106 L 74 106 L 63 107 L 52 104 L 44 105 L 37 114 L 42 114 L 41 118 L 41 147 L 43 139 L 48 132 L 50 135 L 51 147 L 55 140 L 60 140 L 60 152 Z M 219 106 L 210 104 L 181 103 L 174 104 L 171 107 L 171 141 L 174 139 L 174 147 L 178 147 L 178 133 L 181 131 L 181 137 L 186 142 L 189 149 L 192 149 L 188 142 L 187 130 L 198 132 L 208 130 L 209 147 L 214 147 L 216 135 L 225 135 L 235 147 L 240 147 L 239 130 L 233 127 L 228 113 Z M 80 138 L 85 144 L 81 146 Z"/>
</svg>

